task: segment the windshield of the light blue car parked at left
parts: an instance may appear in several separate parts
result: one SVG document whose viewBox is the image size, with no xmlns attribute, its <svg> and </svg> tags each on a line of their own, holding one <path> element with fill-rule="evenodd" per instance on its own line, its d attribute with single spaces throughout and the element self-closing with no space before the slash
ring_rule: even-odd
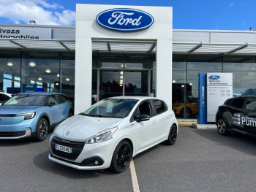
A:
<svg viewBox="0 0 256 192">
<path fill-rule="evenodd" d="M 4 103 L 4 105 L 15 105 L 15 106 L 42 106 L 45 104 L 48 96 L 45 95 L 17 95 L 12 97 Z"/>
</svg>

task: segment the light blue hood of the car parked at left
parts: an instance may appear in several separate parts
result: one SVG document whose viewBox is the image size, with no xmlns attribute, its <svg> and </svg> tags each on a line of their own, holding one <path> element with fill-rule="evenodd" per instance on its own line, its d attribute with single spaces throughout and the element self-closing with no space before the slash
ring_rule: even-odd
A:
<svg viewBox="0 0 256 192">
<path fill-rule="evenodd" d="M 10 105 L 1 105 L 0 114 L 18 114 L 25 112 L 34 112 L 43 106 L 10 106 Z"/>
</svg>

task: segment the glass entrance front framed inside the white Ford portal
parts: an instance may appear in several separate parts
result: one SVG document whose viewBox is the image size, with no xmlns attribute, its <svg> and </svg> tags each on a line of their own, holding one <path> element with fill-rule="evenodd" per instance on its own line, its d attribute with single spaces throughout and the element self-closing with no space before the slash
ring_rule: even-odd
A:
<svg viewBox="0 0 256 192">
<path fill-rule="evenodd" d="M 155 96 L 155 55 L 93 54 L 91 103 L 111 96 Z"/>
</svg>

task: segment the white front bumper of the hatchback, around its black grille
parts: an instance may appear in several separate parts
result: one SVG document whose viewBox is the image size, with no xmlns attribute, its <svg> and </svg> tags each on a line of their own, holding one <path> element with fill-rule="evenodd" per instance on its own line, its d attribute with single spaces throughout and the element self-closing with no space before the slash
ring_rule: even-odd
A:
<svg viewBox="0 0 256 192">
<path fill-rule="evenodd" d="M 50 142 L 52 139 L 53 135 L 50 137 Z M 85 144 L 80 155 L 78 155 L 78 158 L 76 158 L 74 161 L 54 154 L 52 148 L 50 147 L 50 154 L 48 155 L 48 158 L 50 161 L 54 161 L 56 163 L 63 164 L 65 166 L 70 166 L 72 168 L 80 170 L 107 169 L 108 167 L 110 167 L 115 147 L 115 139 L 109 139 L 108 141 L 94 144 Z M 102 165 L 94 164 L 91 166 L 83 166 L 84 161 L 86 161 L 89 158 L 95 157 L 102 159 Z"/>
</svg>

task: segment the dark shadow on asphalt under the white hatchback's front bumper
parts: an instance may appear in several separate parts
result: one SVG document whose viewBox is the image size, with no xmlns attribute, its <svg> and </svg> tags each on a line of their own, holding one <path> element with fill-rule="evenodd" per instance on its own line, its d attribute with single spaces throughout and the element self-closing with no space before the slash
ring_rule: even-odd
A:
<svg viewBox="0 0 256 192">
<path fill-rule="evenodd" d="M 34 165 L 46 172 L 50 172 L 52 174 L 58 174 L 62 177 L 67 177 L 69 179 L 85 179 L 85 178 L 100 177 L 102 175 L 115 174 L 111 172 L 109 169 L 94 170 L 94 171 L 74 169 L 69 166 L 64 166 L 61 164 L 57 164 L 53 161 L 50 161 L 48 159 L 48 155 L 49 155 L 49 151 L 45 151 L 44 153 L 36 155 L 33 158 Z"/>
</svg>

